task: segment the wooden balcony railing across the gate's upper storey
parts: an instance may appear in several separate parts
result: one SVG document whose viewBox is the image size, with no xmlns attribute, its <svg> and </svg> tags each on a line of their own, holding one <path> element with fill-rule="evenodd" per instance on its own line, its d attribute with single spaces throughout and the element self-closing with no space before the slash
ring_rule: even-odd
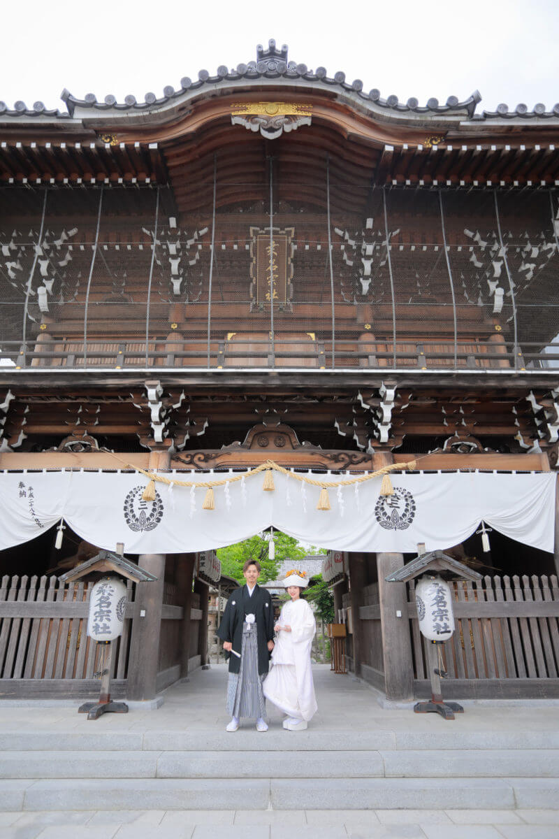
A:
<svg viewBox="0 0 559 839">
<path fill-rule="evenodd" d="M 306 336 L 306 340 L 303 338 Z M 526 369 L 559 368 L 559 343 L 541 345 L 525 341 L 521 347 L 505 341 L 458 341 L 445 339 L 406 339 L 396 341 L 365 336 L 358 340 L 321 341 L 301 336 L 274 341 L 260 333 L 236 333 L 229 340 L 150 341 L 146 352 L 142 341 L 90 341 L 85 348 L 75 341 L 20 342 L 3 341 L 0 366 L 13 369 L 108 368 L 122 370 L 137 367 L 206 367 L 213 369 L 307 367 L 331 369 L 378 367 L 406 369 L 488 368 Z"/>
</svg>

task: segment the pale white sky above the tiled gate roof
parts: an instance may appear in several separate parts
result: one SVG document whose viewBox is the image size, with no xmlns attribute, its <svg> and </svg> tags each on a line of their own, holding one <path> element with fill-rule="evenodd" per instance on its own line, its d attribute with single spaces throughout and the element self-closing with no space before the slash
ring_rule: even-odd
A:
<svg viewBox="0 0 559 839">
<path fill-rule="evenodd" d="M 65 109 L 83 98 L 163 95 L 201 69 L 256 59 L 256 44 L 287 44 L 289 60 L 343 70 L 364 90 L 401 102 L 460 102 L 479 89 L 478 112 L 499 102 L 529 109 L 559 102 L 557 0 L 27 0 L 3 4 L 0 100 Z"/>
</svg>

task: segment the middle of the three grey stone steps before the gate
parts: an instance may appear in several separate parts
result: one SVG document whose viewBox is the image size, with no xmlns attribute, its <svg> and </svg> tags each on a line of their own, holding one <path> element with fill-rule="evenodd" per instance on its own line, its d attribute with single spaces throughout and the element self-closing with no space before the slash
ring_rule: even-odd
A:
<svg viewBox="0 0 559 839">
<path fill-rule="evenodd" d="M 293 757 L 296 754 L 296 757 Z M 0 754 L 4 779 L 556 778 L 559 750 L 83 752 Z"/>
</svg>

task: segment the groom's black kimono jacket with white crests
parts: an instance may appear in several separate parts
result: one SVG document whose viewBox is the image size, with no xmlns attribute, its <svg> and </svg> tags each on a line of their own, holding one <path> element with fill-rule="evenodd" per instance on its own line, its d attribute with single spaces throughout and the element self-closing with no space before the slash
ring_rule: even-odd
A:
<svg viewBox="0 0 559 839">
<path fill-rule="evenodd" d="M 245 623 L 246 615 L 251 613 L 256 617 L 258 675 L 263 675 L 268 672 L 270 660 L 267 643 L 274 639 L 274 611 L 269 591 L 255 586 L 252 597 L 249 597 L 246 586 L 236 588 L 227 601 L 217 634 L 222 641 L 232 641 L 233 649 L 240 653 L 243 623 Z M 229 655 L 229 672 L 238 673 L 241 668 L 241 659 L 230 653 L 226 655 Z"/>
</svg>

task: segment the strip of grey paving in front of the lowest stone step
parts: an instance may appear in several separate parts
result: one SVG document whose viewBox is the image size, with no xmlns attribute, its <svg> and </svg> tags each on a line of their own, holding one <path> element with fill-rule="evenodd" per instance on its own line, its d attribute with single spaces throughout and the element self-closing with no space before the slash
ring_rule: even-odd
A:
<svg viewBox="0 0 559 839">
<path fill-rule="evenodd" d="M 2 839 L 557 839 L 557 810 L 0 813 Z"/>
</svg>

